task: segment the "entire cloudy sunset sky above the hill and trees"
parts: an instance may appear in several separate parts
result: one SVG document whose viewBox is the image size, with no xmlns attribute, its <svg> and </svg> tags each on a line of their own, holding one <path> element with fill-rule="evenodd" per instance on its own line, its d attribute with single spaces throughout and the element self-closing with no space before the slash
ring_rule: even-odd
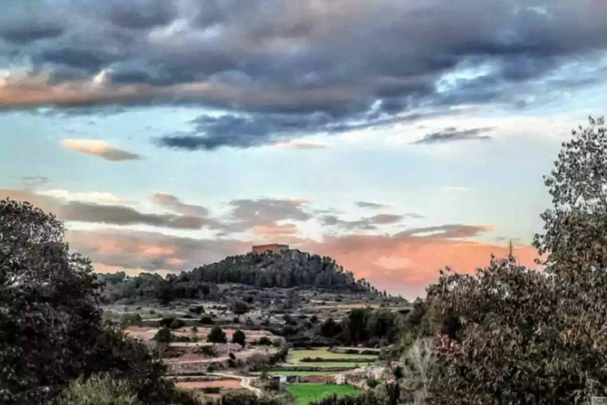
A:
<svg viewBox="0 0 607 405">
<path fill-rule="evenodd" d="M 479 12 L 482 10 L 482 12 Z M 96 271 L 287 243 L 414 299 L 512 240 L 607 102 L 603 0 L 3 0 L 0 198 Z"/>
</svg>

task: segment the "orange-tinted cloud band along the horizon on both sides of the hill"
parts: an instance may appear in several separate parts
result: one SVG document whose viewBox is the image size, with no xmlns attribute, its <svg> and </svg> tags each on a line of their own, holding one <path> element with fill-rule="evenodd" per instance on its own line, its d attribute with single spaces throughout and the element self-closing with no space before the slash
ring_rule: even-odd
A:
<svg viewBox="0 0 607 405">
<path fill-rule="evenodd" d="M 457 240 L 472 237 L 487 226 L 444 225 L 395 235 L 346 235 L 325 237 L 322 241 L 301 239 L 293 234 L 274 236 L 277 243 L 291 248 L 333 257 L 357 278 L 365 278 L 379 290 L 402 294 L 407 299 L 424 296 L 427 285 L 436 282 L 440 269 L 449 266 L 458 273 L 473 273 L 489 264 L 491 254 L 504 257 L 506 245 Z M 434 230 L 433 234 L 428 235 Z M 424 236 L 419 236 L 424 235 Z M 160 233 L 106 231 L 68 231 L 67 239 L 75 251 L 93 262 L 127 269 L 191 270 L 233 254 L 249 251 L 264 242 L 218 239 L 200 240 Z M 515 247 L 518 262 L 534 267 L 536 251 L 529 246 Z M 132 270 L 135 271 L 135 270 Z"/>
</svg>

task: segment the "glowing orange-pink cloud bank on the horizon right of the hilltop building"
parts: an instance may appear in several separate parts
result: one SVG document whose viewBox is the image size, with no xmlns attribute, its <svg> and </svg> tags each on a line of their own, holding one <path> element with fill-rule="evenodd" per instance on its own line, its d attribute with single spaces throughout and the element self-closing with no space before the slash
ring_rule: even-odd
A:
<svg viewBox="0 0 607 405">
<path fill-rule="evenodd" d="M 300 250 L 331 256 L 339 264 L 365 278 L 379 290 L 413 299 L 424 296 L 427 285 L 436 282 L 440 269 L 449 266 L 458 273 L 474 273 L 489 264 L 491 254 L 504 257 L 508 247 L 489 243 L 441 238 L 344 236 L 322 242 L 304 242 Z M 537 251 L 516 247 L 522 265 L 535 267 Z"/>
</svg>

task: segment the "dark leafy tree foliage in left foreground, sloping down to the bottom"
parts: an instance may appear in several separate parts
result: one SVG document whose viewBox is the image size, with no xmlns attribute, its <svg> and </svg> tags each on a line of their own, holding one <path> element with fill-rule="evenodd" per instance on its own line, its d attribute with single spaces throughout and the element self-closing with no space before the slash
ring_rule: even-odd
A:
<svg viewBox="0 0 607 405">
<path fill-rule="evenodd" d="M 146 405 L 171 403 L 157 356 L 102 324 L 90 260 L 70 254 L 63 233 L 51 214 L 0 200 L 0 403 L 38 405 L 106 372 Z"/>
</svg>

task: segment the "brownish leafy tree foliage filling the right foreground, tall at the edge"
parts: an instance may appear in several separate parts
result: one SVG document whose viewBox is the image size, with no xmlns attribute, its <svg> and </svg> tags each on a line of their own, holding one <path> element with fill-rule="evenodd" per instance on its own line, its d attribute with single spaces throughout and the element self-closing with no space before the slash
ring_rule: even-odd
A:
<svg viewBox="0 0 607 405">
<path fill-rule="evenodd" d="M 440 404 L 574 404 L 607 394 L 607 137 L 592 120 L 544 179 L 543 271 L 492 259 L 443 274 L 427 301 L 457 318 L 437 336 Z M 457 393 L 457 395 L 454 395 Z"/>
</svg>

